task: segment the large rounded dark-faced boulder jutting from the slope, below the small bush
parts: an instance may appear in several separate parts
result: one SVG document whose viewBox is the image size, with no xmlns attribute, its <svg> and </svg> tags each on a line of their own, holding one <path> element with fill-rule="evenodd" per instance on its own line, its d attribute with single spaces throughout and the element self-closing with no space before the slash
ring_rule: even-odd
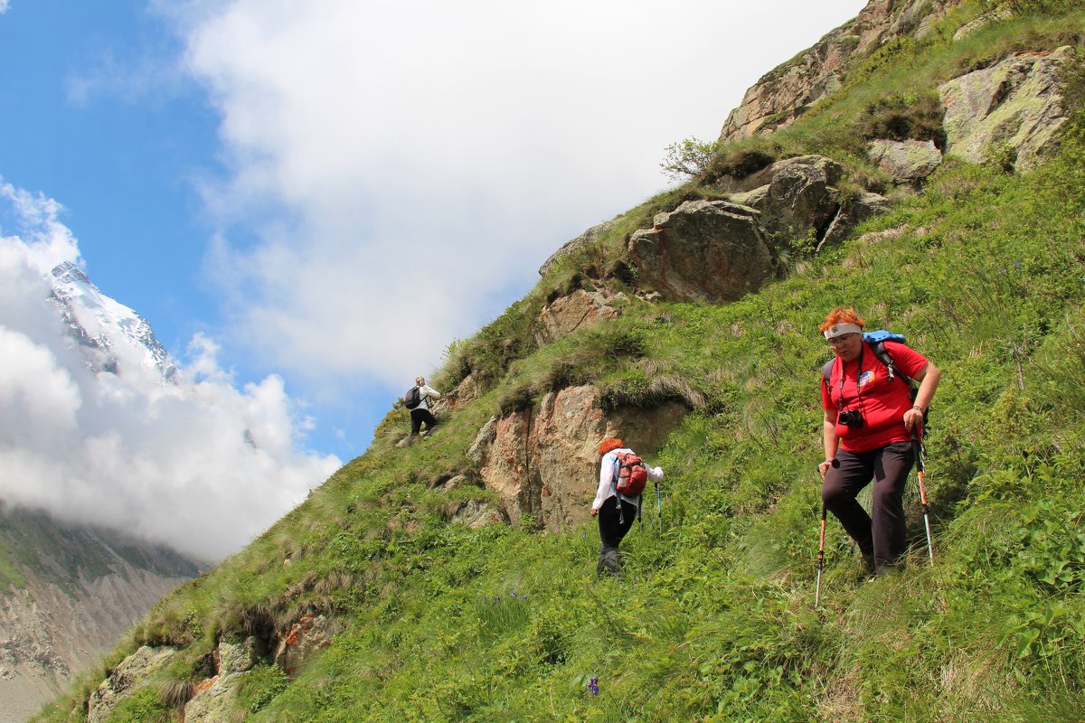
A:
<svg viewBox="0 0 1085 723">
<path fill-rule="evenodd" d="M 757 211 L 726 201 L 687 201 L 629 240 L 642 284 L 674 301 L 733 301 L 776 275 Z"/>
</svg>

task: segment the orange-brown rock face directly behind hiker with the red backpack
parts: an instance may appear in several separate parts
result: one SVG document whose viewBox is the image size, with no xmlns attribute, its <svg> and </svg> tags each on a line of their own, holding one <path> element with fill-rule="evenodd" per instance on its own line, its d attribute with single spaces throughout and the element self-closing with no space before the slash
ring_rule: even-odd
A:
<svg viewBox="0 0 1085 723">
<path fill-rule="evenodd" d="M 600 439 L 621 437 L 651 454 L 687 411 L 668 402 L 604 414 L 596 387 L 570 387 L 546 395 L 535 409 L 492 419 L 468 454 L 513 522 L 534 515 L 560 531 L 588 519 L 599 485 Z"/>
</svg>

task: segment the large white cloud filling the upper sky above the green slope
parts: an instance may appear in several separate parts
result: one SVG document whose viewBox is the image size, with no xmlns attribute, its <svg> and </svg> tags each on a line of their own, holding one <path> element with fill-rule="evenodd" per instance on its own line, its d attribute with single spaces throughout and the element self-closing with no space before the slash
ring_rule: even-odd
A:
<svg viewBox="0 0 1085 723">
<path fill-rule="evenodd" d="M 207 189 L 224 228 L 208 269 L 238 332 L 281 367 L 401 382 L 562 243 L 662 190 L 666 145 L 713 138 L 760 75 L 864 4 L 174 10 L 232 168 Z"/>
</svg>

